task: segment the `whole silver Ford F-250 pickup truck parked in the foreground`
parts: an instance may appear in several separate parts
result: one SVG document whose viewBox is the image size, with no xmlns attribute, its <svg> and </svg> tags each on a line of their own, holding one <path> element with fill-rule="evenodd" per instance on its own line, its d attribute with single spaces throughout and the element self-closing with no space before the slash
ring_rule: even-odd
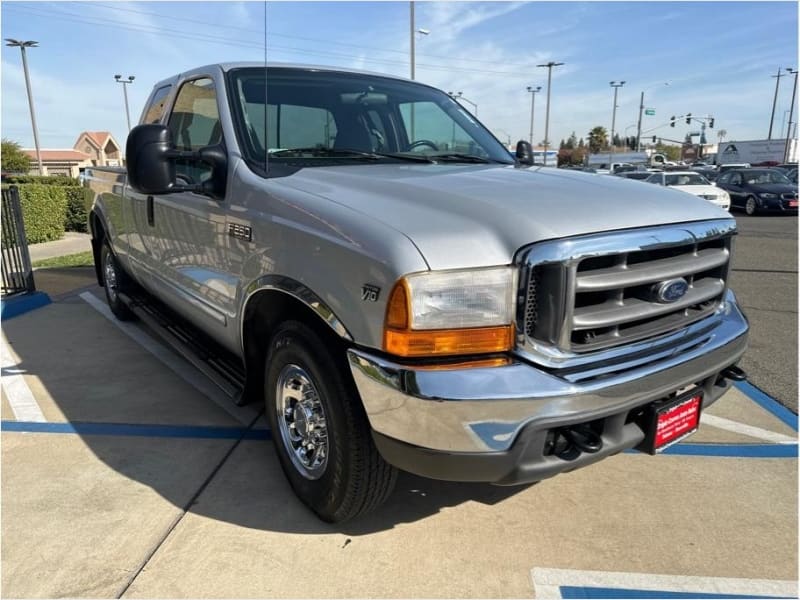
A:
<svg viewBox="0 0 800 600">
<path fill-rule="evenodd" d="M 736 223 L 708 202 L 532 166 L 387 75 L 210 65 L 140 123 L 127 173 L 88 176 L 108 303 L 144 294 L 238 361 L 324 520 L 397 469 L 511 485 L 656 453 L 743 377 Z"/>
</svg>

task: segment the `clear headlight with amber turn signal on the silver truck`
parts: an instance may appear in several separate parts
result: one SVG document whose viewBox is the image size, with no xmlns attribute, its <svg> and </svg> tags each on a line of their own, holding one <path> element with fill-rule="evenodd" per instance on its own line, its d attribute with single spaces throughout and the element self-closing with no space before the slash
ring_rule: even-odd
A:
<svg viewBox="0 0 800 600">
<path fill-rule="evenodd" d="M 516 282 L 513 267 L 403 277 L 389 296 L 384 349 L 399 356 L 510 350 Z"/>
</svg>

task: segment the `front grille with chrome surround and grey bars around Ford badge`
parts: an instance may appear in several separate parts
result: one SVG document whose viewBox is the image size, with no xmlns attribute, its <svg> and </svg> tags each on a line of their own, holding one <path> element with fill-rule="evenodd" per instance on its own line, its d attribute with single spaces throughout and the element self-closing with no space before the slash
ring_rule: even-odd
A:
<svg viewBox="0 0 800 600">
<path fill-rule="evenodd" d="M 521 254 L 518 331 L 529 354 L 570 357 L 674 333 L 715 314 L 735 221 L 723 219 L 535 244 Z M 657 295 L 676 284 L 676 299 Z"/>
</svg>

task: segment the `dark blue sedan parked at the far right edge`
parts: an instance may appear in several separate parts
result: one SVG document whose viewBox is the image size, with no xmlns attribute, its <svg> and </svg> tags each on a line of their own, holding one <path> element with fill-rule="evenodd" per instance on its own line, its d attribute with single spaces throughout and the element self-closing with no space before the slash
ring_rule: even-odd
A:
<svg viewBox="0 0 800 600">
<path fill-rule="evenodd" d="M 797 184 L 777 169 L 736 169 L 722 173 L 717 187 L 726 190 L 731 206 L 748 215 L 774 211 L 797 214 Z"/>
</svg>

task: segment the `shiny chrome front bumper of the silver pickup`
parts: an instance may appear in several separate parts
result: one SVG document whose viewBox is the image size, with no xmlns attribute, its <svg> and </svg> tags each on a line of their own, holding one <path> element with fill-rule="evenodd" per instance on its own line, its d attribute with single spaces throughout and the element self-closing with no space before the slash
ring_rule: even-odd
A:
<svg viewBox="0 0 800 600">
<path fill-rule="evenodd" d="M 688 385 L 712 386 L 747 347 L 748 324 L 732 293 L 704 340 L 616 375 L 570 382 L 530 363 L 431 370 L 351 349 L 350 368 L 372 429 L 420 449 L 509 451 L 520 432 L 619 415 Z M 716 400 L 707 394 L 705 405 Z"/>
</svg>

